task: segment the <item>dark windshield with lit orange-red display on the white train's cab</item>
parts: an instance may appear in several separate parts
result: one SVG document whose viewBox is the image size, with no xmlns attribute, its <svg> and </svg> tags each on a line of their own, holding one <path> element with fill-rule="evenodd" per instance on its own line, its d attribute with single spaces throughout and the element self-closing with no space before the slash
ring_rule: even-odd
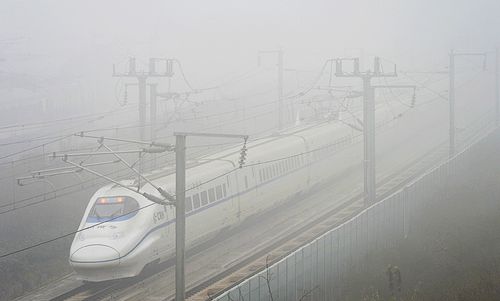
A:
<svg viewBox="0 0 500 301">
<path fill-rule="evenodd" d="M 100 222 L 113 219 L 113 221 L 126 220 L 137 213 L 139 203 L 131 197 L 100 197 L 89 212 L 88 222 Z"/>
</svg>

